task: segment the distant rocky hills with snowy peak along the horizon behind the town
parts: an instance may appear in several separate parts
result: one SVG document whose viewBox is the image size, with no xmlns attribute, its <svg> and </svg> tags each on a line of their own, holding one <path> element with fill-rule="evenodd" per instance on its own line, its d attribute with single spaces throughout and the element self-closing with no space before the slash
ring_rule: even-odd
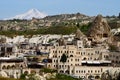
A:
<svg viewBox="0 0 120 80">
<path fill-rule="evenodd" d="M 104 17 L 107 19 L 110 27 L 119 27 L 120 19 L 117 17 Z M 59 15 L 45 15 L 40 13 L 37 9 L 31 9 L 25 14 L 18 15 L 16 17 L 9 18 L 8 20 L 0 21 L 0 30 L 37 30 L 43 27 L 69 27 L 75 26 L 82 29 L 86 33 L 86 25 L 92 23 L 95 16 L 87 16 L 81 13 L 74 14 L 59 14 Z M 119 25 L 118 25 L 119 24 Z M 82 27 L 82 28 L 81 28 Z"/>
</svg>

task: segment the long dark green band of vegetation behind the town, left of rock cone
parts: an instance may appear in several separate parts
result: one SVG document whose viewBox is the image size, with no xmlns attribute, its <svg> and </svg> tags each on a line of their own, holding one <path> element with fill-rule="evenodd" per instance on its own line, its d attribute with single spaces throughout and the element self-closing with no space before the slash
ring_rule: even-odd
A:
<svg viewBox="0 0 120 80">
<path fill-rule="evenodd" d="M 7 30 L 7 31 L 0 31 L 0 35 L 5 36 L 16 36 L 16 35 L 36 35 L 36 34 L 72 34 L 75 33 L 77 27 L 48 27 L 48 28 L 41 28 L 38 30 L 25 30 L 25 31 L 14 31 L 14 30 Z"/>
</svg>

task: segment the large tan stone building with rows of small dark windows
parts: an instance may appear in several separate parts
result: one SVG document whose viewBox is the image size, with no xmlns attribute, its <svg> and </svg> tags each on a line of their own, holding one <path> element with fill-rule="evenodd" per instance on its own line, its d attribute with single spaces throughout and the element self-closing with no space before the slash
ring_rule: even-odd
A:
<svg viewBox="0 0 120 80">
<path fill-rule="evenodd" d="M 66 54 L 67 61 L 60 62 L 62 54 Z M 49 68 L 58 69 L 59 73 L 66 73 L 75 77 L 94 79 L 109 69 L 120 69 L 119 53 L 109 52 L 104 48 L 78 48 L 74 45 L 56 46 L 51 49 L 52 64 Z"/>
</svg>

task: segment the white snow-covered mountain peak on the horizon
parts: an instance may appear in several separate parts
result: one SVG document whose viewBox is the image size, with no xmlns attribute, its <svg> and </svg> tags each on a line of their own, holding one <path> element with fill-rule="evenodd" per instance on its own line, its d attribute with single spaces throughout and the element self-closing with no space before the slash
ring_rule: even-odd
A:
<svg viewBox="0 0 120 80">
<path fill-rule="evenodd" d="M 27 19 L 30 20 L 33 17 L 40 19 L 40 18 L 44 18 L 47 15 L 45 13 L 41 13 L 39 10 L 37 9 L 31 9 L 28 12 L 24 13 L 24 14 L 20 14 L 20 15 L 16 15 L 15 17 L 11 17 L 11 18 L 6 18 L 4 20 L 12 20 L 12 19 Z"/>
</svg>

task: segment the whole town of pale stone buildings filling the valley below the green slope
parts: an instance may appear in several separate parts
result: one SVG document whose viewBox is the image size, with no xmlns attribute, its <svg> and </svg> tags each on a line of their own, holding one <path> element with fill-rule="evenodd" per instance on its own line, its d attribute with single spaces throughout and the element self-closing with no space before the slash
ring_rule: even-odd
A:
<svg viewBox="0 0 120 80">
<path fill-rule="evenodd" d="M 106 39 L 106 37 L 105 37 Z M 61 62 L 65 54 L 67 60 Z M 71 35 L 34 35 L 31 38 L 0 37 L 0 75 L 19 78 L 26 71 L 41 68 L 83 79 L 100 79 L 109 71 L 120 72 L 120 52 L 111 52 L 108 45 L 92 45 L 80 30 Z"/>
</svg>

